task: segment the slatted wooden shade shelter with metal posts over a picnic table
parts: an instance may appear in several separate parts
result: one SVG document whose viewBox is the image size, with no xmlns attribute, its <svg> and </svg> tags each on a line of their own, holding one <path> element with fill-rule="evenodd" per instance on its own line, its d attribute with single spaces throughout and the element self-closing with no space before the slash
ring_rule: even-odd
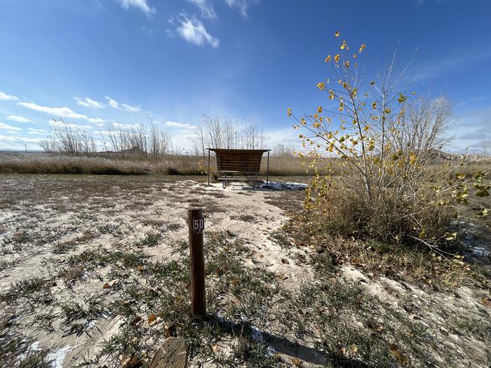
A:
<svg viewBox="0 0 491 368">
<path fill-rule="evenodd" d="M 210 153 L 217 156 L 218 178 L 223 187 L 232 181 L 252 181 L 253 189 L 261 171 L 262 154 L 268 153 L 266 186 L 269 184 L 270 149 L 217 149 L 208 148 L 208 185 L 210 185 Z"/>
</svg>

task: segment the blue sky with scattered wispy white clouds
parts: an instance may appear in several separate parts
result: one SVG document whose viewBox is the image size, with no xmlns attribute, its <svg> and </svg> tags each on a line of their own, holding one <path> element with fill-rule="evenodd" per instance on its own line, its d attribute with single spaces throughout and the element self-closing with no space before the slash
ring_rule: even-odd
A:
<svg viewBox="0 0 491 368">
<path fill-rule="evenodd" d="M 449 149 L 491 137 L 491 1 L 0 0 L 0 149 L 39 149 L 52 118 L 91 132 L 153 116 L 189 147 L 208 116 L 297 142 L 287 107 L 325 102 L 332 34 L 365 43 L 367 75 L 397 43 L 417 88 L 453 103 Z"/>
</svg>

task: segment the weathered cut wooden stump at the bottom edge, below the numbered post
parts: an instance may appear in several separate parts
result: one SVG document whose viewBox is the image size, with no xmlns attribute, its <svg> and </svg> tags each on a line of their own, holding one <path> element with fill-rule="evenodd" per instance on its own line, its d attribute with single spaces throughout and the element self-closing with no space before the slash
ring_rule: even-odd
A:
<svg viewBox="0 0 491 368">
<path fill-rule="evenodd" d="M 150 368 L 187 368 L 187 343 L 182 337 L 168 337 L 156 350 Z"/>
</svg>

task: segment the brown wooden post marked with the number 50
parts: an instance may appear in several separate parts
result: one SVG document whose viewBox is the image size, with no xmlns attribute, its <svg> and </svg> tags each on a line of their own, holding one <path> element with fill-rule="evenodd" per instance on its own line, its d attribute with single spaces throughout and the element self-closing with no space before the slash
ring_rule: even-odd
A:
<svg viewBox="0 0 491 368">
<path fill-rule="evenodd" d="M 191 314 L 194 318 L 206 316 L 205 257 L 203 252 L 203 229 L 205 220 L 201 208 L 187 211 L 189 226 L 189 258 L 191 259 Z"/>
</svg>

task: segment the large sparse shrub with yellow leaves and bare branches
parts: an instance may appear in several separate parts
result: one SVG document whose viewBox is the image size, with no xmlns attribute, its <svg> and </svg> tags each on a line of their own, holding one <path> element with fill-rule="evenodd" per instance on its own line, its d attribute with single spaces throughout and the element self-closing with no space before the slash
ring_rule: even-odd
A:
<svg viewBox="0 0 491 368">
<path fill-rule="evenodd" d="M 299 156 L 311 158 L 316 172 L 307 189 L 307 207 L 323 212 L 328 226 L 344 235 L 430 247 L 453 240 L 455 235 L 448 233 L 451 205 L 466 202 L 465 175 L 455 175 L 448 164 L 428 170 L 446 143 L 449 102 L 401 86 L 409 65 L 395 74 L 394 58 L 377 81 L 365 83 L 358 55 L 366 46 L 354 54 L 347 41 L 339 48 L 325 59 L 332 65 L 334 86 L 328 88 L 329 79 L 317 85 L 330 103 L 310 116 L 293 116 L 305 148 Z M 320 163 L 341 175 L 321 175 Z M 485 195 L 489 186 L 483 178 L 480 173 L 477 185 Z"/>
</svg>

